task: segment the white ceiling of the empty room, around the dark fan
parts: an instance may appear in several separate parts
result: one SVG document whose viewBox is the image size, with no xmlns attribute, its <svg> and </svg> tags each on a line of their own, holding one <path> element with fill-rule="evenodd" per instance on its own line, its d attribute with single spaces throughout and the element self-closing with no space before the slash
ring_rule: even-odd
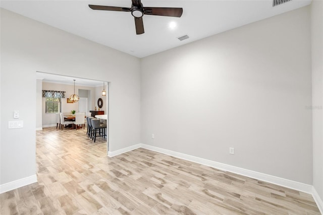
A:
<svg viewBox="0 0 323 215">
<path fill-rule="evenodd" d="M 292 0 L 273 8 L 272 0 L 145 1 L 144 7 L 180 7 L 181 18 L 143 16 L 145 33 L 136 35 L 129 12 L 94 11 L 88 5 L 131 7 L 127 1 L 1 1 L 1 7 L 100 44 L 143 58 L 311 3 Z M 170 22 L 177 27 L 170 29 Z M 179 36 L 190 38 L 180 41 Z"/>
</svg>

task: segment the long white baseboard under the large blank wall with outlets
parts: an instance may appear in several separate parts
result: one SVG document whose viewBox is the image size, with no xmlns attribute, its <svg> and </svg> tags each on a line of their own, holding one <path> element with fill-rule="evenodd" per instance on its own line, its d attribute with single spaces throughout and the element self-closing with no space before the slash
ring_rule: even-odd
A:
<svg viewBox="0 0 323 215">
<path fill-rule="evenodd" d="M 222 164 L 219 162 L 214 162 L 212 160 L 208 160 L 208 159 L 204 159 L 204 158 L 200 158 L 200 157 L 195 157 L 192 155 L 183 154 L 180 152 L 171 151 L 171 150 L 164 149 L 164 148 L 158 148 L 158 147 L 151 146 L 151 145 L 141 144 L 141 147 L 152 150 L 152 151 L 172 155 L 174 157 L 179 157 L 179 158 L 189 160 L 191 162 L 195 162 L 195 163 L 202 164 L 205 166 L 217 168 L 219 170 L 237 173 L 239 175 L 247 176 L 250 178 L 258 179 L 258 180 L 269 182 L 272 184 L 277 184 L 277 185 L 280 185 L 283 187 L 291 188 L 291 189 L 302 191 L 305 193 L 310 193 L 310 194 L 312 193 L 312 185 L 309 185 L 309 184 L 304 184 L 304 183 L 292 181 L 289 179 L 284 179 L 284 178 L 280 178 L 280 177 L 276 177 L 276 176 L 272 176 L 272 175 L 267 175 L 264 173 L 258 173 L 258 172 L 252 171 L 252 170 L 246 170 L 243 168 L 234 167 L 234 166 L 230 166 L 227 164 Z"/>
</svg>

